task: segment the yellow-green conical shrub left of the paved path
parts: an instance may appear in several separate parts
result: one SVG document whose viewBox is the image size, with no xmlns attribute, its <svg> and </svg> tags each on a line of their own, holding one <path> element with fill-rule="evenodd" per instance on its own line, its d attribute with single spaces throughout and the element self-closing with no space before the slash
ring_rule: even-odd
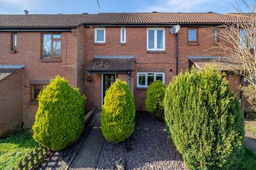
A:
<svg viewBox="0 0 256 170">
<path fill-rule="evenodd" d="M 52 150 L 61 150 L 76 141 L 83 131 L 85 97 L 59 77 L 38 96 L 33 125 L 35 141 Z"/>
</svg>

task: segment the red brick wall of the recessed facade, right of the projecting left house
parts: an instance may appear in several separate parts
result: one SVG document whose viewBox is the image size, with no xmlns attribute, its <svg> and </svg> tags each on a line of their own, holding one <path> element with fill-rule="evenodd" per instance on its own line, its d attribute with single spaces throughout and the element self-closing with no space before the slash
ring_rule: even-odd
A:
<svg viewBox="0 0 256 170">
<path fill-rule="evenodd" d="M 141 68 L 165 69 L 165 84 L 169 84 L 175 75 L 175 35 L 169 33 L 170 27 L 165 28 L 165 52 L 147 52 L 147 28 L 126 27 L 126 44 L 120 44 L 120 28 L 106 28 L 106 43 L 94 44 L 94 28 L 85 30 L 85 68 L 92 62 L 94 55 L 135 55 L 135 67 L 131 78 L 133 93 L 137 110 L 145 109 L 146 89 L 137 88 L 137 70 Z M 199 45 L 188 45 L 187 28 L 182 27 L 179 31 L 179 70 L 188 69 L 188 56 L 212 55 L 213 29 L 198 28 Z M 173 71 L 170 72 L 170 69 Z M 85 71 L 85 96 L 86 107 L 101 107 L 101 75 L 92 74 L 93 81 L 87 82 L 87 71 Z M 126 75 L 127 77 L 127 75 Z M 125 75 L 122 79 L 126 80 Z"/>
</svg>

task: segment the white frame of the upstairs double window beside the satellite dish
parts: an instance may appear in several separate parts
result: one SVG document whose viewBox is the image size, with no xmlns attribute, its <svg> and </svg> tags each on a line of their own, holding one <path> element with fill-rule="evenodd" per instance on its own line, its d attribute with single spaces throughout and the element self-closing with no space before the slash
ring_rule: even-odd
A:
<svg viewBox="0 0 256 170">
<path fill-rule="evenodd" d="M 154 30 L 154 48 L 148 48 L 149 30 Z M 157 30 L 163 30 L 163 48 L 157 48 Z M 147 50 L 148 51 L 165 51 L 165 28 L 147 28 Z"/>
</svg>

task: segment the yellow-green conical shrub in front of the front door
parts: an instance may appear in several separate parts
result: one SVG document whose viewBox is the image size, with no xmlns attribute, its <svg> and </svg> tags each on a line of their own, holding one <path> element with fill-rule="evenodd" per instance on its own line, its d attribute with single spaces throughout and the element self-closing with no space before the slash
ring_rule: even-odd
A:
<svg viewBox="0 0 256 170">
<path fill-rule="evenodd" d="M 134 131 L 135 105 L 128 84 L 119 79 L 106 91 L 101 112 L 101 130 L 104 137 L 118 143 Z"/>
</svg>

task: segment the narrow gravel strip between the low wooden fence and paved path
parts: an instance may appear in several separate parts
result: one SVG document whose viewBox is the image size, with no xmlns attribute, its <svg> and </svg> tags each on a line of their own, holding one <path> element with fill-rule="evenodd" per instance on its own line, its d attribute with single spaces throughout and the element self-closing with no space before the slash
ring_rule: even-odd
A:
<svg viewBox="0 0 256 170">
<path fill-rule="evenodd" d="M 57 170 L 57 169 L 65 169 L 68 166 L 69 160 L 73 153 L 77 150 L 79 144 L 82 142 L 84 134 L 90 130 L 90 126 L 93 123 L 93 118 L 86 123 L 83 133 L 81 137 L 74 142 L 69 147 L 56 152 L 51 152 L 51 154 L 44 160 L 41 167 L 38 169 L 40 170 Z"/>
</svg>

